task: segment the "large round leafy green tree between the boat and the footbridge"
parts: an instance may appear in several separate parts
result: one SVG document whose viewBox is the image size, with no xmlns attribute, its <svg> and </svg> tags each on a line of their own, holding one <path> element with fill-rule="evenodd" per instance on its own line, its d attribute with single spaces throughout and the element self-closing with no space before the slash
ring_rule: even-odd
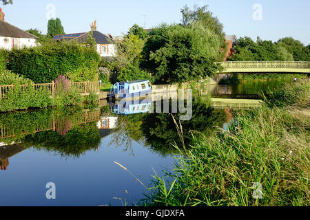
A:
<svg viewBox="0 0 310 220">
<path fill-rule="evenodd" d="M 218 37 L 200 23 L 189 28 L 163 24 L 149 33 L 143 67 L 152 72 L 158 82 L 200 80 L 220 69 L 214 63 L 219 53 Z"/>
</svg>

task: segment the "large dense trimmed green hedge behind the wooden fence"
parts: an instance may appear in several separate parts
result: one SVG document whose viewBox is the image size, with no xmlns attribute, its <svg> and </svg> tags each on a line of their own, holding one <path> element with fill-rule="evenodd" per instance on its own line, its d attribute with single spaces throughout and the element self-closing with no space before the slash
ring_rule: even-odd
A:
<svg viewBox="0 0 310 220">
<path fill-rule="evenodd" d="M 73 81 L 92 81 L 99 61 L 99 54 L 92 48 L 76 42 L 52 42 L 12 50 L 9 69 L 34 83 L 51 83 L 63 74 Z"/>
</svg>

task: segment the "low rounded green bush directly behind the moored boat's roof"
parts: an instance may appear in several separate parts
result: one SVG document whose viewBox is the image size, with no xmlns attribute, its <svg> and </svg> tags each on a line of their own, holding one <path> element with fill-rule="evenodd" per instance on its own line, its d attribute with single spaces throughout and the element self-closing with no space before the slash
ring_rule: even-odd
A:
<svg viewBox="0 0 310 220">
<path fill-rule="evenodd" d="M 117 80 L 121 82 L 132 81 L 132 80 L 149 80 L 154 82 L 154 77 L 148 72 L 141 70 L 137 64 L 129 65 L 125 67 L 117 76 Z"/>
</svg>

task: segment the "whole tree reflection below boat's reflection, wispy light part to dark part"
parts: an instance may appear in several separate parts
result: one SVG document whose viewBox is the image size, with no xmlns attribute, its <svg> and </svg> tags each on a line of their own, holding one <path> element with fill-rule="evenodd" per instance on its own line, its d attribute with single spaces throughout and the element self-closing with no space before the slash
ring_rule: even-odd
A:
<svg viewBox="0 0 310 220">
<path fill-rule="evenodd" d="M 171 103 L 169 104 L 171 109 Z M 181 113 L 173 115 L 178 122 Z M 221 127 L 226 120 L 225 110 L 211 107 L 208 98 L 194 98 L 192 119 L 181 121 L 185 146 L 191 144 L 192 133 L 199 132 L 209 136 L 216 131 L 214 126 Z M 118 116 L 118 126 L 112 133 L 110 144 L 122 146 L 123 151 L 130 151 L 134 155 L 133 141 L 164 157 L 178 153 L 173 144 L 183 148 L 176 124 L 169 113 L 137 113 Z"/>
</svg>

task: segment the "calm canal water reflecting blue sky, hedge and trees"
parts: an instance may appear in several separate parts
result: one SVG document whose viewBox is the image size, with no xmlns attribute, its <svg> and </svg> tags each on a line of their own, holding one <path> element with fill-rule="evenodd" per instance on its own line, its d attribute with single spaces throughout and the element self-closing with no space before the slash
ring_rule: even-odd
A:
<svg viewBox="0 0 310 220">
<path fill-rule="evenodd" d="M 217 85 L 213 97 L 255 98 L 260 89 L 279 82 Z M 122 206 L 143 199 L 154 170 L 172 168 L 179 144 L 174 122 L 165 113 L 117 115 L 101 109 L 41 109 L 0 115 L 0 206 Z M 115 111 L 114 111 L 115 112 Z M 178 118 L 178 115 L 175 115 Z M 223 126 L 227 112 L 194 100 L 189 131 L 212 133 Z M 45 185 L 56 185 L 56 199 L 46 199 Z M 123 200 L 121 200 L 123 199 Z"/>
</svg>

